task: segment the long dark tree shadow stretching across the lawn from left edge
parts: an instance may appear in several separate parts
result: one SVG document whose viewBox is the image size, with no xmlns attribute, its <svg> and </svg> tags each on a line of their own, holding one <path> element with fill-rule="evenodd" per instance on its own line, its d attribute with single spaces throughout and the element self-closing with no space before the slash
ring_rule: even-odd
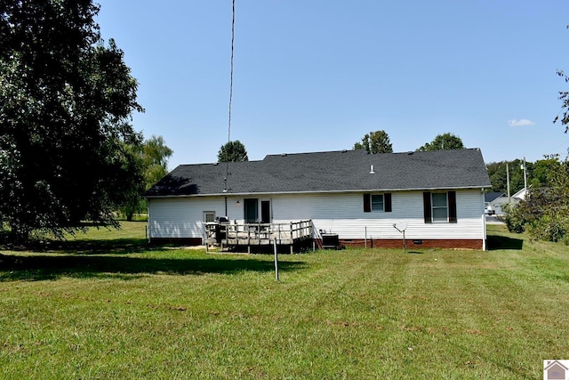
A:
<svg viewBox="0 0 569 380">
<path fill-rule="evenodd" d="M 280 262 L 279 271 L 295 271 L 304 263 Z M 274 271 L 272 260 L 249 258 L 165 259 L 105 255 L 1 255 L 0 281 L 76 278 L 136 279 L 149 274 L 235 274 L 242 271 Z"/>
</svg>

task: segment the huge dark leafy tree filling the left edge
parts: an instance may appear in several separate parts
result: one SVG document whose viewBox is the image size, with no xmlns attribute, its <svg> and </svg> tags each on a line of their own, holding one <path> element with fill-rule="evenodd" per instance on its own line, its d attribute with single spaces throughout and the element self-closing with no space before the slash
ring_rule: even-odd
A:
<svg viewBox="0 0 569 380">
<path fill-rule="evenodd" d="M 112 210 L 141 181 L 137 82 L 91 0 L 0 0 L 0 228 L 27 239 Z"/>
</svg>

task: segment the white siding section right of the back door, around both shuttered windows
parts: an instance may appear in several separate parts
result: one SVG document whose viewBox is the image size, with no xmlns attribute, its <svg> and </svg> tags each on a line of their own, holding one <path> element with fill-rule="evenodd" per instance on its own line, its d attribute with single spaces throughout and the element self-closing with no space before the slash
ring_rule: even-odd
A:
<svg viewBox="0 0 569 380">
<path fill-rule="evenodd" d="M 407 222 L 408 239 L 485 239 L 480 190 L 456 191 L 457 222 L 425 223 L 421 191 L 392 193 L 391 213 L 365 213 L 360 194 L 290 195 L 273 198 L 275 222 L 312 219 L 317 230 L 340 239 L 400 239 L 393 224 Z"/>
</svg>

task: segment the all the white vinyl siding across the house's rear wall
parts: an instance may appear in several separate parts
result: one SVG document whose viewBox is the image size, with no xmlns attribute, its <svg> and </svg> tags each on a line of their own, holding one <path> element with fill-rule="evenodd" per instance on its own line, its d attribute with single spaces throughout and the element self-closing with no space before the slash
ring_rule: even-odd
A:
<svg viewBox="0 0 569 380">
<path fill-rule="evenodd" d="M 243 222 L 244 198 L 256 197 L 228 197 L 231 222 Z M 393 227 L 398 222 L 407 223 L 407 239 L 485 239 L 481 190 L 456 190 L 455 223 L 425 223 L 422 191 L 393 191 L 389 213 L 366 213 L 361 192 L 271 195 L 270 201 L 272 222 L 312 219 L 317 230 L 340 239 L 364 239 L 366 231 L 368 239 L 400 239 Z M 204 212 L 225 215 L 225 197 L 151 198 L 148 211 L 150 238 L 201 238 Z"/>
</svg>

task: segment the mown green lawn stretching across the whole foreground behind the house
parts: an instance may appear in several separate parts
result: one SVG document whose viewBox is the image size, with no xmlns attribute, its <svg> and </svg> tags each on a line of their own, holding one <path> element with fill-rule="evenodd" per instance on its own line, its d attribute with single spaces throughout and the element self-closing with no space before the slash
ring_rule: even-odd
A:
<svg viewBox="0 0 569 380">
<path fill-rule="evenodd" d="M 0 377 L 542 378 L 569 249 L 280 255 L 148 247 L 143 222 L 0 255 Z"/>
</svg>

